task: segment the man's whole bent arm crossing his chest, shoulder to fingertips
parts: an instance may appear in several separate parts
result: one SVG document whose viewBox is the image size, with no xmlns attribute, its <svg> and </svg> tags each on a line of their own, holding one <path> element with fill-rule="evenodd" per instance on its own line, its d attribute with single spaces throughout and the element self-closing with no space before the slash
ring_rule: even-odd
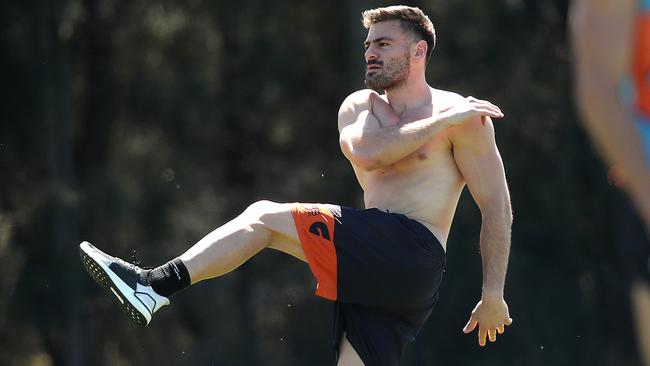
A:
<svg viewBox="0 0 650 366">
<path fill-rule="evenodd" d="M 386 101 L 365 89 L 352 93 L 341 105 L 339 142 L 353 165 L 372 171 L 403 159 L 445 128 L 476 116 L 503 114 L 489 102 L 468 97 L 435 116 L 402 123 Z"/>
</svg>

